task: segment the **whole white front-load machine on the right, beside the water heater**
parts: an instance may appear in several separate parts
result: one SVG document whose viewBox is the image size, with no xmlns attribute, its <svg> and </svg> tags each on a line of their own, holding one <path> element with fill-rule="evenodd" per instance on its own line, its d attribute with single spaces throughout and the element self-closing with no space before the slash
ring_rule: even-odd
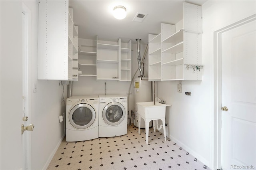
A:
<svg viewBox="0 0 256 170">
<path fill-rule="evenodd" d="M 99 95 L 99 137 L 127 134 L 127 97 Z"/>
</svg>

